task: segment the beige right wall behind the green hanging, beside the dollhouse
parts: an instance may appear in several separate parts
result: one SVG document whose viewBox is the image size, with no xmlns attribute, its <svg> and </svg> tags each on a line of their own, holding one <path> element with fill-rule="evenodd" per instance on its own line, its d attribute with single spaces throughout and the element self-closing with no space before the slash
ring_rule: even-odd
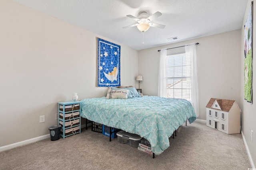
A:
<svg viewBox="0 0 256 170">
<path fill-rule="evenodd" d="M 245 25 L 246 18 L 249 12 L 251 0 L 248 0 L 246 12 L 244 14 L 244 20 L 242 24 L 242 28 Z M 256 23 L 256 6 L 254 4 L 254 15 L 253 15 L 253 23 Z M 254 24 L 255 25 L 255 24 Z M 256 90 L 256 27 L 253 26 L 253 44 L 252 44 L 252 49 L 254 50 L 253 52 L 253 67 L 252 67 L 252 90 L 253 90 L 253 95 L 252 95 L 252 104 L 246 102 L 244 100 L 244 29 L 241 31 L 241 55 L 240 55 L 240 60 L 241 60 L 241 109 L 242 109 L 242 132 L 244 134 L 244 138 L 246 140 L 246 143 L 248 145 L 248 149 L 251 155 L 251 159 L 253 160 L 254 163 L 254 168 L 256 164 L 256 95 L 255 95 L 255 90 Z M 251 141 L 251 131 L 253 131 L 253 141 Z M 252 162 L 251 162 L 252 163 Z"/>
</svg>

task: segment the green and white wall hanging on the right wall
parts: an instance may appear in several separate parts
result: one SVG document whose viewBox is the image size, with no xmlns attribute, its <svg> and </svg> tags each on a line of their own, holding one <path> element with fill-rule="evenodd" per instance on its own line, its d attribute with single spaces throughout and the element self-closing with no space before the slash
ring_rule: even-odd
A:
<svg viewBox="0 0 256 170">
<path fill-rule="evenodd" d="M 252 12 L 253 4 L 244 25 L 244 99 L 252 103 Z"/>
</svg>

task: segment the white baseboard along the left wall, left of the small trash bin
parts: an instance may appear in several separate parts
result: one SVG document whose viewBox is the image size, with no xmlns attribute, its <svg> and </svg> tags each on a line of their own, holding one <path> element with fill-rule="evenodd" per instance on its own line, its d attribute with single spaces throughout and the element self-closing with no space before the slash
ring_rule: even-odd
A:
<svg viewBox="0 0 256 170">
<path fill-rule="evenodd" d="M 47 138 L 50 138 L 50 134 L 43 135 L 43 136 L 40 136 L 40 137 L 35 137 L 35 138 L 32 138 L 32 139 L 28 139 L 26 141 L 20 141 L 20 142 L 17 142 L 17 143 L 13 143 L 13 144 L 10 144 L 10 145 L 0 147 L 0 152 L 5 151 L 5 150 L 9 150 L 9 149 L 13 149 L 13 148 L 16 148 L 16 147 L 21 147 L 23 145 L 28 145 L 30 143 L 41 141 L 41 140 L 47 139 Z"/>
</svg>

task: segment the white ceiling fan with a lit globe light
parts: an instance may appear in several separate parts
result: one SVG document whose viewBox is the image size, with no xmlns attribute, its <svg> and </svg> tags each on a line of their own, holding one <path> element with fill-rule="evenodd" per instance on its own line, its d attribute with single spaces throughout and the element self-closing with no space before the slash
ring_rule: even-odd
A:
<svg viewBox="0 0 256 170">
<path fill-rule="evenodd" d="M 139 17 L 140 19 L 136 18 L 132 15 L 127 15 L 127 17 L 137 21 L 138 23 L 135 23 L 133 25 L 129 25 L 129 26 L 126 26 L 126 27 L 123 27 L 123 28 L 125 29 L 125 28 L 129 28 L 129 27 L 137 26 L 137 28 L 141 32 L 147 31 L 149 29 L 149 27 L 157 27 L 157 28 L 162 28 L 163 29 L 165 27 L 165 25 L 151 22 L 152 20 L 158 18 L 161 15 L 162 15 L 161 12 L 156 12 L 156 13 L 152 14 L 151 16 L 148 16 L 147 12 L 140 12 L 140 17 Z"/>
</svg>

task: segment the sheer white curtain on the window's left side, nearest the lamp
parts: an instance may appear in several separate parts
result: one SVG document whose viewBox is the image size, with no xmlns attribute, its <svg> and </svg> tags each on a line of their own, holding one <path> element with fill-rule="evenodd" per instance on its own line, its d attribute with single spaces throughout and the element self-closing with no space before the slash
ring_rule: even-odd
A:
<svg viewBox="0 0 256 170">
<path fill-rule="evenodd" d="M 161 49 L 158 73 L 158 96 L 166 98 L 166 79 L 167 79 L 167 50 Z"/>
</svg>

